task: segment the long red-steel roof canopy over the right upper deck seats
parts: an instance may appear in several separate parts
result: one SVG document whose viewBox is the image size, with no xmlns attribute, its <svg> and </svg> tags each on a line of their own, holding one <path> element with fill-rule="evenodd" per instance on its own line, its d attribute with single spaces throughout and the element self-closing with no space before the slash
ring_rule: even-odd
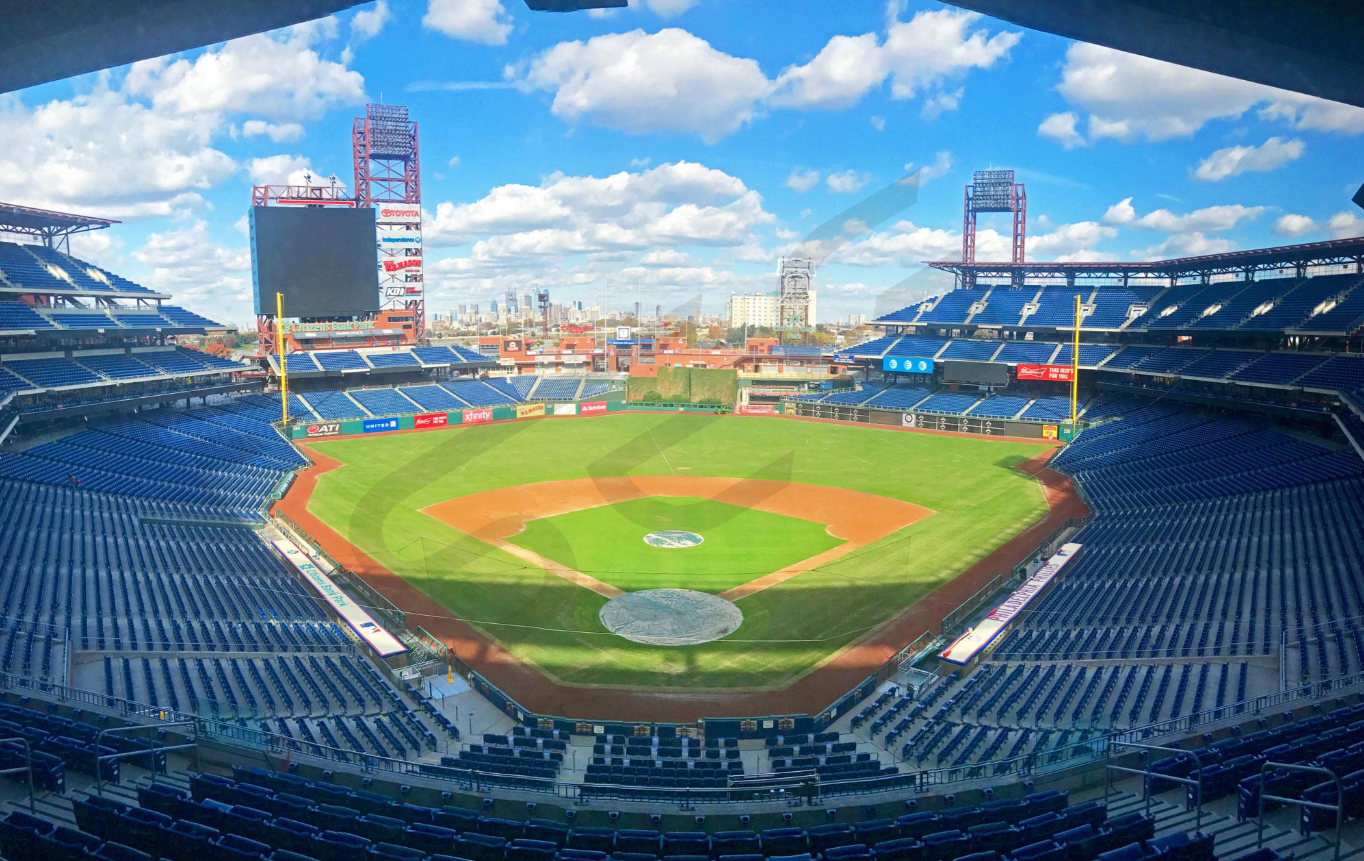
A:
<svg viewBox="0 0 1364 861">
<path fill-rule="evenodd" d="M 1331 239 L 1277 248 L 1225 251 L 1200 257 L 1180 257 L 1168 261 L 1090 261 L 1072 263 L 1011 263 L 1008 261 L 963 263 L 960 261 L 925 261 L 934 269 L 959 276 L 1024 278 L 1091 278 L 1139 277 L 1183 278 L 1247 272 L 1296 269 L 1299 266 L 1327 266 L 1333 263 L 1364 263 L 1364 236 Z"/>
</svg>

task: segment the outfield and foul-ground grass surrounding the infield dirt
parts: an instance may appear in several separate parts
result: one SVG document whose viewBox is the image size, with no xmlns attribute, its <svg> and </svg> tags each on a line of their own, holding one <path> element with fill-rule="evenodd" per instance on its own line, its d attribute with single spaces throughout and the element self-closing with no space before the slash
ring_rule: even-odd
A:
<svg viewBox="0 0 1364 861">
<path fill-rule="evenodd" d="M 520 659 L 572 684 L 782 686 L 1046 512 L 1037 480 L 1013 469 L 1043 450 L 1037 443 L 780 418 L 619 413 L 315 445 L 345 465 L 322 476 L 314 514 Z M 664 648 L 603 629 L 600 595 L 420 512 L 495 487 L 610 475 L 828 484 L 934 514 L 739 600 L 743 626 L 724 640 Z"/>
</svg>

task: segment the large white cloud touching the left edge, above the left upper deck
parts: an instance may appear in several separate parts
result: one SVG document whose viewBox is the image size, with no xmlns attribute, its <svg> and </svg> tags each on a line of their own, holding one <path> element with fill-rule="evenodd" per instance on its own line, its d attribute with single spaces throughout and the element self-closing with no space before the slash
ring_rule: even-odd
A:
<svg viewBox="0 0 1364 861">
<path fill-rule="evenodd" d="M 0 199 L 112 218 L 186 216 L 236 162 L 214 116 L 177 116 L 109 90 L 27 108 L 0 97 Z"/>
</svg>

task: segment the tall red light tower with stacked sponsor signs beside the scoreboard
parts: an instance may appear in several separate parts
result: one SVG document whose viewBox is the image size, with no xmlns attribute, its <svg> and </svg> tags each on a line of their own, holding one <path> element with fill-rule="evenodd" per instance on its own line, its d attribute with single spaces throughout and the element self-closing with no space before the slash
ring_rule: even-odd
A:
<svg viewBox="0 0 1364 861">
<path fill-rule="evenodd" d="M 364 116 L 352 124 L 351 149 L 356 202 L 378 209 L 381 307 L 412 311 L 412 334 L 424 344 L 417 124 L 401 105 L 366 105 Z"/>
</svg>

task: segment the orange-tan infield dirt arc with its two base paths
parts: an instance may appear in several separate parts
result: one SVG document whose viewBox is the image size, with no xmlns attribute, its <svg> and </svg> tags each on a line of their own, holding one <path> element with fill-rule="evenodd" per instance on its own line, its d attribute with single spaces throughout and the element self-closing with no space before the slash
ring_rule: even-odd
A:
<svg viewBox="0 0 1364 861">
<path fill-rule="evenodd" d="M 701 475 L 627 475 L 537 482 L 456 497 L 428 505 L 421 513 L 604 598 L 617 598 L 625 592 L 506 539 L 521 532 L 532 520 L 645 497 L 700 497 L 738 508 L 813 520 L 825 524 L 833 538 L 843 539 L 837 547 L 722 592 L 720 598 L 727 600 L 746 598 L 828 565 L 933 514 L 922 505 L 842 487 Z"/>
</svg>

